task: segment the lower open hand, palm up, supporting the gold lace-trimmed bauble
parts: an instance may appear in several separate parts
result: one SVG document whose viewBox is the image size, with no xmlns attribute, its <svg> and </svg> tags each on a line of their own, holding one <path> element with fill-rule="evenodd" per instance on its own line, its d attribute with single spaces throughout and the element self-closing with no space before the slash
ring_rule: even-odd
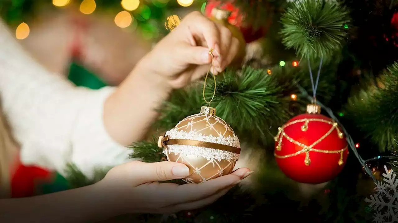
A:
<svg viewBox="0 0 398 223">
<path fill-rule="evenodd" d="M 215 202 L 252 172 L 240 168 L 201 184 L 159 183 L 189 175 L 188 167 L 176 162 L 144 163 L 132 161 L 111 169 L 98 183 L 117 214 L 175 213 L 193 210 Z"/>
</svg>

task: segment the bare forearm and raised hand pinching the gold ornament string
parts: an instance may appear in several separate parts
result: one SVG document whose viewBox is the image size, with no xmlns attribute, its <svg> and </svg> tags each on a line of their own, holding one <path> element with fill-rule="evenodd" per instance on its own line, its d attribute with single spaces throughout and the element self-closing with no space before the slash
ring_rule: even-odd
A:
<svg viewBox="0 0 398 223">
<path fill-rule="evenodd" d="M 213 48 L 214 58 L 209 55 Z M 142 140 L 170 92 L 206 74 L 222 71 L 235 57 L 238 40 L 226 27 L 190 13 L 138 63 L 105 102 L 107 133 L 119 144 Z M 217 72 L 216 72 L 217 71 Z M 199 112 L 199 111 L 198 111 Z"/>
</svg>

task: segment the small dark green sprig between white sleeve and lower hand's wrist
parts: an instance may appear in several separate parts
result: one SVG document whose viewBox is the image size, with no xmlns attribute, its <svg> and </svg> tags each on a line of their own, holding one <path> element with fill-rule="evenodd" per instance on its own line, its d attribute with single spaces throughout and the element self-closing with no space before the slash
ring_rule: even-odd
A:
<svg viewBox="0 0 398 223">
<path fill-rule="evenodd" d="M 88 178 L 76 165 L 68 164 L 66 170 L 66 180 L 69 182 L 71 188 L 79 188 L 83 186 L 93 185 L 102 180 L 109 169 L 96 169 L 93 178 Z"/>
</svg>

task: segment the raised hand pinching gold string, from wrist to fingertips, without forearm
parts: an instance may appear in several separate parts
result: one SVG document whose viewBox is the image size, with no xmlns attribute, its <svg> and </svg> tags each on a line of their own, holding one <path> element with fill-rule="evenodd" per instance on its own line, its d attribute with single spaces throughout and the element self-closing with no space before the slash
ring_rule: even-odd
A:
<svg viewBox="0 0 398 223">
<path fill-rule="evenodd" d="M 188 14 L 169 35 L 141 61 L 154 79 L 182 88 L 202 77 L 212 63 L 212 73 L 223 71 L 236 56 L 239 41 L 228 28 L 200 12 Z M 213 49 L 212 59 L 209 51 Z M 153 79 L 152 79 L 153 80 Z"/>
</svg>

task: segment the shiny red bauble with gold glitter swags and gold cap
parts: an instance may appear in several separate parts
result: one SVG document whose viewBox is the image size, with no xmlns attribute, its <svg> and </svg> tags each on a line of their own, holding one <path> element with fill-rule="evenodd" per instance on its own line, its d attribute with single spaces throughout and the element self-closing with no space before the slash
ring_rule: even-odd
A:
<svg viewBox="0 0 398 223">
<path fill-rule="evenodd" d="M 275 158 L 285 175 L 299 183 L 320 184 L 340 173 L 348 144 L 338 123 L 308 105 L 307 114 L 290 119 L 275 137 Z"/>
</svg>

